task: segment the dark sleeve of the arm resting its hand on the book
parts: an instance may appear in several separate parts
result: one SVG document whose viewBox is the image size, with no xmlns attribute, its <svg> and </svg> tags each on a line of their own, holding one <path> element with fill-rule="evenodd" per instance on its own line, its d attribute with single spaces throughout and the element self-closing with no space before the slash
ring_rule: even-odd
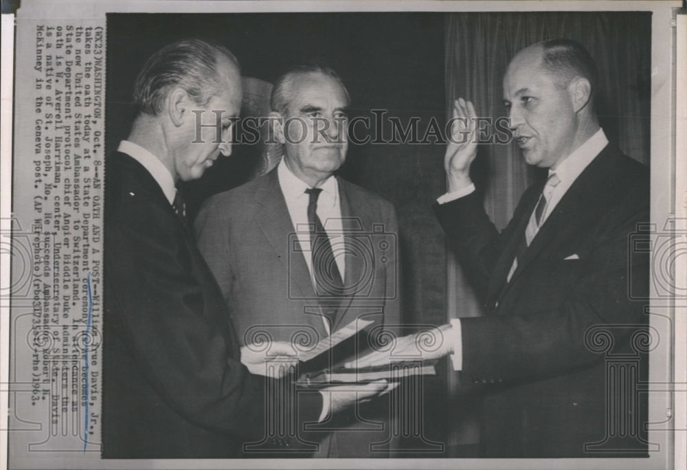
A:
<svg viewBox="0 0 687 470">
<path fill-rule="evenodd" d="M 563 372 L 602 359 L 595 344 L 605 339 L 596 333 L 616 343 L 645 335 L 640 298 L 649 286 L 649 254 L 633 251 L 629 241 L 637 223 L 648 220 L 648 208 L 638 208 L 600 240 L 583 276 L 555 308 L 462 319 L 463 372 L 499 381 Z M 642 295 L 633 299 L 631 291 Z"/>
</svg>

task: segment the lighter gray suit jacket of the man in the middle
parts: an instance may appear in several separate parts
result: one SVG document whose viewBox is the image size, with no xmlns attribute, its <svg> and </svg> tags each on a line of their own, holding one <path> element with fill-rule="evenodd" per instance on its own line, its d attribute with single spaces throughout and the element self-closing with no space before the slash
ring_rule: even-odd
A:
<svg viewBox="0 0 687 470">
<path fill-rule="evenodd" d="M 365 318 L 375 322 L 368 327 L 370 331 L 396 331 L 400 324 L 396 212 L 376 194 L 340 178 L 338 183 L 348 295 L 333 330 Z M 326 228 L 326 221 L 323 223 Z M 326 337 L 319 301 L 296 242 L 276 169 L 205 201 L 195 228 L 199 248 L 222 289 L 241 344 L 255 342 L 259 331 L 279 341 L 308 338 L 317 342 Z M 388 429 L 385 432 L 388 434 Z M 339 440 L 338 456 L 345 455 L 342 446 L 346 444 L 353 455 L 367 455 L 365 447 L 370 440 L 374 442 L 374 436 L 354 434 L 346 434 L 346 443 Z M 361 434 L 365 443 L 354 444 Z"/>
</svg>

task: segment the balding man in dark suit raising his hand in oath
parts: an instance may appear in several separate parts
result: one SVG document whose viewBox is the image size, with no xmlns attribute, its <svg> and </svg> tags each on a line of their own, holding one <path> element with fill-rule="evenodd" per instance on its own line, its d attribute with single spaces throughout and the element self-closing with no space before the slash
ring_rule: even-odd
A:
<svg viewBox="0 0 687 470">
<path fill-rule="evenodd" d="M 630 292 L 646 293 L 648 260 L 629 238 L 649 221 L 649 172 L 608 143 L 595 92 L 596 65 L 574 41 L 537 43 L 510 62 L 504 102 L 513 137 L 548 179 L 526 190 L 500 233 L 469 175 L 475 110 L 455 103 L 449 192 L 435 209 L 488 315 L 452 320 L 434 332 L 443 342 L 431 351 L 414 336 L 399 339 L 392 356 L 452 355 L 462 385 L 484 395 L 486 457 L 646 455 L 646 396 L 609 392 L 615 379 L 599 353 L 609 337 L 609 355 L 646 352 L 638 342 L 645 303 Z M 389 360 L 372 353 L 357 366 Z M 634 385 L 646 377 L 645 361 L 640 368 Z"/>
</svg>

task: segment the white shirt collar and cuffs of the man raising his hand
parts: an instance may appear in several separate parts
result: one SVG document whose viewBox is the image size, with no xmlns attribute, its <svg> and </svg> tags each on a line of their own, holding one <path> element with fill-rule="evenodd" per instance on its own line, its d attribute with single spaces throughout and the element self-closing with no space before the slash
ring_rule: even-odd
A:
<svg viewBox="0 0 687 470">
<path fill-rule="evenodd" d="M 596 131 L 592 137 L 587 139 L 587 142 L 579 146 L 573 153 L 567 156 L 561 164 L 559 164 L 556 170 L 549 169 L 548 175 L 550 176 L 553 172 L 560 179 L 560 183 L 554 188 L 550 199 L 548 199 L 545 212 L 541 216 L 541 221 L 539 225 L 546 221 L 546 218 L 552 214 L 556 205 L 565 195 L 565 192 L 572 186 L 572 183 L 580 176 L 580 174 L 587 168 L 587 166 L 592 163 L 592 160 L 601 153 L 601 150 L 608 145 L 608 139 L 603 129 Z M 470 184 L 465 188 L 460 188 L 459 190 L 443 194 L 437 199 L 437 202 L 444 204 L 450 201 L 455 201 L 461 197 L 465 197 L 475 191 L 475 185 Z M 533 216 L 533 215 L 532 215 Z M 533 234 L 532 236 L 536 236 Z M 512 269 L 513 271 L 513 269 Z M 509 276 L 510 277 L 510 276 Z M 462 332 L 460 328 L 460 319 L 453 318 L 451 320 L 451 328 L 444 331 L 444 336 L 447 337 L 447 341 L 453 344 L 453 353 L 451 354 L 451 362 L 453 363 L 453 370 L 462 370 L 463 368 L 463 350 L 462 350 Z"/>
</svg>

